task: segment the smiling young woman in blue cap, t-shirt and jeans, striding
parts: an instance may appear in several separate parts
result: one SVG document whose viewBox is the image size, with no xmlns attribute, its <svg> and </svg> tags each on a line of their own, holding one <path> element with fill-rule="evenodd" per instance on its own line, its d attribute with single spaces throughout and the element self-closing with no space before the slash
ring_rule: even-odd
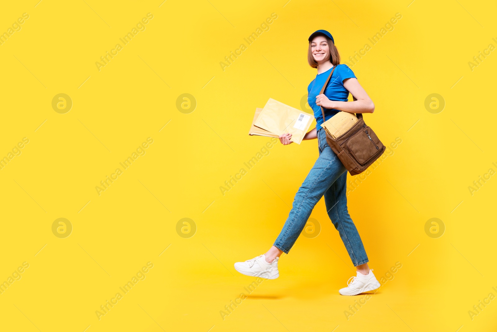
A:
<svg viewBox="0 0 497 332">
<path fill-rule="evenodd" d="M 276 279 L 279 276 L 278 259 L 288 253 L 302 232 L 314 206 L 325 196 L 325 204 L 333 225 L 348 251 L 357 275 L 347 281 L 347 287 L 340 289 L 341 295 L 357 295 L 380 287 L 373 270 L 369 269 L 368 257 L 357 228 L 347 211 L 346 181 L 347 171 L 326 142 L 325 129 L 321 124 L 338 111 L 351 113 L 372 113 L 374 104 L 350 70 L 340 65 L 340 55 L 334 45 L 333 37 L 326 30 L 318 30 L 309 37 L 309 65 L 318 69 L 316 78 L 309 84 L 308 103 L 314 111 L 316 128 L 309 131 L 304 139 L 318 138 L 319 157 L 299 188 L 293 207 L 283 229 L 272 247 L 265 253 L 245 262 L 235 263 L 235 269 L 249 276 Z M 324 94 L 319 95 L 332 68 L 335 68 Z M 347 102 L 348 94 L 356 99 Z M 325 110 L 325 117 L 321 112 Z M 290 133 L 279 137 L 283 145 L 292 143 Z"/>
</svg>

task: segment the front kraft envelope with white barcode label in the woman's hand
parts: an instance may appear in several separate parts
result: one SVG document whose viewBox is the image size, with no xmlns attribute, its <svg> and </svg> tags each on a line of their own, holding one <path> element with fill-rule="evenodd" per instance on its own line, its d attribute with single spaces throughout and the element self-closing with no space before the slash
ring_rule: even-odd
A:
<svg viewBox="0 0 497 332">
<path fill-rule="evenodd" d="M 314 114 L 294 109 L 269 98 L 254 125 L 278 136 L 289 132 L 292 134 L 290 140 L 300 144 L 311 126 L 313 118 Z"/>
</svg>

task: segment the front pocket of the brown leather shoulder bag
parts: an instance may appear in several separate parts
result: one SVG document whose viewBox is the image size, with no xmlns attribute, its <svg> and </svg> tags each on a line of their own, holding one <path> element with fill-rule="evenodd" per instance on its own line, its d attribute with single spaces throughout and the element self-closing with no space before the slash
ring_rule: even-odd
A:
<svg viewBox="0 0 497 332">
<path fill-rule="evenodd" d="M 383 143 L 374 131 L 366 126 L 347 140 L 346 146 L 357 162 L 361 165 L 380 153 L 383 153 Z"/>
</svg>

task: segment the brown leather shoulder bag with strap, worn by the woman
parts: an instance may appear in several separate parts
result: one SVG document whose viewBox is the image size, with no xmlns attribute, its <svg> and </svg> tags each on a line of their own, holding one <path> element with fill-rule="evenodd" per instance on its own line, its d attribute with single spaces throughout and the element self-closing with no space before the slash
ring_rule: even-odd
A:
<svg viewBox="0 0 497 332">
<path fill-rule="evenodd" d="M 328 76 L 320 94 L 324 93 L 335 68 L 336 66 L 331 70 L 330 76 Z M 321 111 L 323 112 L 324 121 L 325 110 L 323 107 L 321 107 Z M 337 155 L 350 175 L 364 172 L 385 151 L 385 146 L 376 136 L 373 129 L 366 125 L 362 114 L 357 113 L 355 115 L 358 119 L 357 122 L 341 136 L 332 138 L 326 134 L 328 145 L 330 145 L 331 150 Z"/>
</svg>

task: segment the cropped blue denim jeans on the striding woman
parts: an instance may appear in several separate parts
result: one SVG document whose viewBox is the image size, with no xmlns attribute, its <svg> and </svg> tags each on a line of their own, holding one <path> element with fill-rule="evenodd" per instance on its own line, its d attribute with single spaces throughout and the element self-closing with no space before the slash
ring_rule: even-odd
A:
<svg viewBox="0 0 497 332">
<path fill-rule="evenodd" d="M 326 210 L 340 234 L 354 266 L 367 263 L 361 237 L 347 211 L 347 170 L 326 141 L 325 129 L 318 130 L 319 157 L 300 186 L 288 219 L 274 246 L 288 253 L 311 216 L 314 206 L 325 196 Z"/>
</svg>

